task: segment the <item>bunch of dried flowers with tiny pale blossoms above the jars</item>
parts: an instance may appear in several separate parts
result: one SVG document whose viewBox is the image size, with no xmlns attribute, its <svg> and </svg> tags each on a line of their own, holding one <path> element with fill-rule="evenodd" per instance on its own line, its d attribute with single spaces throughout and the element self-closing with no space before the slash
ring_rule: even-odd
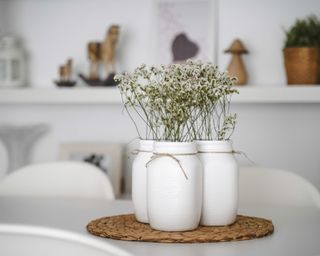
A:
<svg viewBox="0 0 320 256">
<path fill-rule="evenodd" d="M 233 133 L 236 115 L 230 113 L 230 98 L 238 92 L 236 78 L 212 63 L 141 65 L 115 80 L 140 138 L 228 140 Z M 145 124 L 143 136 L 137 119 Z"/>
</svg>

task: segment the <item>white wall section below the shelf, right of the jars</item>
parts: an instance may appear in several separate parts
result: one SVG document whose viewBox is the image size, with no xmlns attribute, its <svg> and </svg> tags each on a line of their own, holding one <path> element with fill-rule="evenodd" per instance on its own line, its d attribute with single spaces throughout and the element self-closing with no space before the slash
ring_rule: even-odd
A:
<svg viewBox="0 0 320 256">
<path fill-rule="evenodd" d="M 239 114 L 235 149 L 258 165 L 296 172 L 320 189 L 319 104 L 237 104 L 233 110 Z"/>
</svg>

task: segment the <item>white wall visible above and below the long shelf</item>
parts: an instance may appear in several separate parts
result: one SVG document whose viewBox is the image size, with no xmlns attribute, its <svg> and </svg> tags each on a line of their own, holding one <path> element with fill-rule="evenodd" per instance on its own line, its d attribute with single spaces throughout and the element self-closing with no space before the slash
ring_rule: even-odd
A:
<svg viewBox="0 0 320 256">
<path fill-rule="evenodd" d="M 119 70 L 152 62 L 152 2 L 0 0 L 0 10 L 4 10 L 7 30 L 24 38 L 31 56 L 30 84 L 50 87 L 57 66 L 68 56 L 76 60 L 78 70 L 85 69 L 86 43 L 101 39 L 112 23 L 121 25 Z M 281 25 L 287 27 L 296 17 L 311 12 L 319 14 L 320 1 L 221 0 L 219 10 L 221 67 L 230 59 L 222 50 L 240 37 L 250 51 L 245 58 L 250 84 L 284 86 Z M 0 124 L 48 123 L 50 132 L 32 156 L 33 162 L 41 162 L 57 159 L 61 142 L 129 142 L 135 130 L 121 110 L 120 106 L 99 105 L 0 105 Z M 239 113 L 236 149 L 245 151 L 257 164 L 297 172 L 320 189 L 319 104 L 238 104 L 234 110 Z M 5 166 L 5 150 L 0 145 L 2 173 Z"/>
</svg>

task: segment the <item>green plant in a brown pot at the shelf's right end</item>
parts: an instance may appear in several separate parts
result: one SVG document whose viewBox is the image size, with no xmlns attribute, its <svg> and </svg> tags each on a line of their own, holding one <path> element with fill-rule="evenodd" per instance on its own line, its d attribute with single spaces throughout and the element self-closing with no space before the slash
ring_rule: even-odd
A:
<svg viewBox="0 0 320 256">
<path fill-rule="evenodd" d="M 320 21 L 316 16 L 298 19 L 286 31 L 283 55 L 288 85 L 320 82 Z"/>
</svg>

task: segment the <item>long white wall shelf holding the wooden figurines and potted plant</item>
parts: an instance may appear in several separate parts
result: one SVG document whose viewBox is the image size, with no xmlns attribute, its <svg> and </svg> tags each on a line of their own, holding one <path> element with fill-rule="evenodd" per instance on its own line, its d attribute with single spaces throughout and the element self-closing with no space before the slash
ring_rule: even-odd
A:
<svg viewBox="0 0 320 256">
<path fill-rule="evenodd" d="M 245 86 L 234 103 L 320 103 L 320 86 Z M 121 104 L 116 87 L 1 89 L 0 104 Z"/>
</svg>

